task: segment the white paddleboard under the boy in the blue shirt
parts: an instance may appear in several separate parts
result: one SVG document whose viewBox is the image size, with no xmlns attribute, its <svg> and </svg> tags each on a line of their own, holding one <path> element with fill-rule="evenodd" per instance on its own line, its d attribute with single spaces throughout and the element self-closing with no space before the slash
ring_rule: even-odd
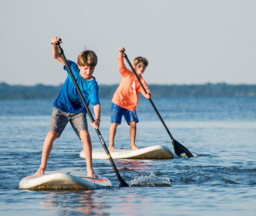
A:
<svg viewBox="0 0 256 216">
<path fill-rule="evenodd" d="M 31 175 L 20 180 L 20 189 L 58 190 L 58 189 L 96 189 L 111 186 L 104 177 L 90 178 L 85 171 L 56 170 L 46 171 L 44 175 Z"/>
</svg>

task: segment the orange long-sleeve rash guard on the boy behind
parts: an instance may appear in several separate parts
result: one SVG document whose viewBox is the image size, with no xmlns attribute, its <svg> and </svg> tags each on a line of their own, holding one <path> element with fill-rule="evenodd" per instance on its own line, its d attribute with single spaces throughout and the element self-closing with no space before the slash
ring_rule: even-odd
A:
<svg viewBox="0 0 256 216">
<path fill-rule="evenodd" d="M 143 96 L 146 94 L 133 72 L 126 68 L 124 64 L 124 57 L 118 57 L 118 62 L 119 72 L 123 76 L 123 79 L 113 95 L 112 102 L 117 104 L 119 107 L 135 111 L 138 104 L 138 93 L 140 92 Z M 151 93 L 142 76 L 140 77 L 140 81 L 146 91 Z"/>
</svg>

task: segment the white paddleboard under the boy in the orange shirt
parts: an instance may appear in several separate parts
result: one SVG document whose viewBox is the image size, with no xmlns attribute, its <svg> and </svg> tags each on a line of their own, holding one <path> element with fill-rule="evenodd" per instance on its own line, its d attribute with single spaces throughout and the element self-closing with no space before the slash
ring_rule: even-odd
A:
<svg viewBox="0 0 256 216">
<path fill-rule="evenodd" d="M 116 149 L 109 151 L 112 159 L 173 159 L 177 156 L 165 146 L 149 146 L 138 150 Z M 84 151 L 79 153 L 85 158 Z M 104 149 L 92 149 L 92 159 L 108 159 Z"/>
</svg>

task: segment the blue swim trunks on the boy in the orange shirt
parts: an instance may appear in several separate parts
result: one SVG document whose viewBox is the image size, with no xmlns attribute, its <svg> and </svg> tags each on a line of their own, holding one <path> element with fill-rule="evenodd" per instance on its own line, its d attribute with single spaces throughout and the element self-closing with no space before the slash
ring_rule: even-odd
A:
<svg viewBox="0 0 256 216">
<path fill-rule="evenodd" d="M 138 123 L 138 116 L 137 116 L 136 111 L 121 108 L 118 105 L 112 103 L 112 105 L 111 105 L 111 123 L 121 124 L 122 115 L 124 115 L 125 120 L 128 125 L 130 125 L 131 121 L 135 121 L 136 123 Z"/>
</svg>

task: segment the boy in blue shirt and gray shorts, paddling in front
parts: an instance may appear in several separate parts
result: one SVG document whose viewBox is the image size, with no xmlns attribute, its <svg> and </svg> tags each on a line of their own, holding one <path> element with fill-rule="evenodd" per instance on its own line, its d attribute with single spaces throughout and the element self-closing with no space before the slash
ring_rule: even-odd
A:
<svg viewBox="0 0 256 216">
<path fill-rule="evenodd" d="M 59 37 L 52 38 L 53 58 L 65 65 L 56 46 L 59 41 Z M 89 50 L 79 54 L 77 64 L 68 60 L 72 73 L 85 97 L 86 103 L 89 105 L 90 102 L 93 105 L 95 121 L 92 123 L 92 127 L 96 129 L 98 129 L 100 123 L 100 104 L 98 100 L 98 83 L 92 74 L 97 62 L 97 55 L 94 51 Z M 64 66 L 64 70 L 67 71 L 66 66 Z M 79 139 L 83 142 L 87 176 L 97 177 L 92 169 L 92 141 L 87 129 L 86 109 L 69 73 L 58 97 L 53 103 L 52 119 L 49 132 L 46 135 L 43 145 L 41 165 L 35 174 L 43 175 L 45 173 L 47 159 L 52 150 L 53 142 L 59 138 L 68 121 Z"/>
</svg>

